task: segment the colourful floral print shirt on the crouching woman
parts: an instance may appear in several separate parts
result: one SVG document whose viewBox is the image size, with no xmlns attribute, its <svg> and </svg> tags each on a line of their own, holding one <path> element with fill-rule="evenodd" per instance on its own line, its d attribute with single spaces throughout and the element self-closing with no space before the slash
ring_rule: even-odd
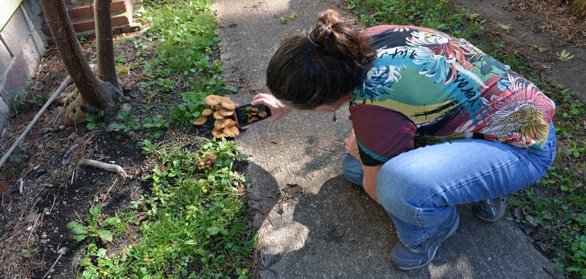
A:
<svg viewBox="0 0 586 279">
<path fill-rule="evenodd" d="M 416 26 L 375 26 L 377 56 L 350 106 L 363 165 L 415 147 L 473 138 L 543 149 L 556 105 L 464 39 Z"/>
</svg>

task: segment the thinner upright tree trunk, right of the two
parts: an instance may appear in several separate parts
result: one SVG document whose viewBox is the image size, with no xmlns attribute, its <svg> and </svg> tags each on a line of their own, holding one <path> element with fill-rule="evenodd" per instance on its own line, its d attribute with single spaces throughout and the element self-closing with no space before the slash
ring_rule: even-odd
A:
<svg viewBox="0 0 586 279">
<path fill-rule="evenodd" d="M 110 0 L 94 1 L 94 22 L 96 22 L 96 53 L 98 60 L 98 79 L 118 86 L 114 63 L 114 43 L 112 41 L 112 22 L 110 19 Z"/>
</svg>

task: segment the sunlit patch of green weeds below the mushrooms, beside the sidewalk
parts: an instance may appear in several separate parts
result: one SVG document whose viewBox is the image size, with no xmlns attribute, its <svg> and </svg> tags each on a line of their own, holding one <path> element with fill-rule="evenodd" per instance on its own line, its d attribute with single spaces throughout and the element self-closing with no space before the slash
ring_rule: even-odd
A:
<svg viewBox="0 0 586 279">
<path fill-rule="evenodd" d="M 143 152 L 158 158 L 159 164 L 145 177 L 153 183 L 151 195 L 141 196 L 131 206 L 147 216 L 139 226 L 140 240 L 110 255 L 92 241 L 81 261 L 84 278 L 246 278 L 256 235 L 241 198 L 246 178 L 233 168 L 247 156 L 226 140 L 191 148 L 199 150 L 188 151 L 179 143 L 168 148 L 157 148 L 147 140 L 142 143 Z M 204 154 L 216 155 L 210 170 L 196 167 Z M 68 224 L 76 240 L 101 237 L 99 208 L 90 210 L 87 226 Z M 108 223 L 122 233 L 136 220 L 132 212 L 117 216 L 101 226 Z M 112 219 L 115 222 L 108 222 Z M 105 240 L 111 237 L 110 233 Z"/>
</svg>

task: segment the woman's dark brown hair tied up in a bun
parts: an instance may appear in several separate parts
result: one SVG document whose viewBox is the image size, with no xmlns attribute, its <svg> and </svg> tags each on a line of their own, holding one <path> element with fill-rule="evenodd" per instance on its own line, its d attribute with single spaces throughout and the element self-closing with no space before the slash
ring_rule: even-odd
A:
<svg viewBox="0 0 586 279">
<path fill-rule="evenodd" d="M 321 12 L 314 29 L 285 39 L 271 57 L 268 89 L 279 100 L 302 110 L 351 93 L 376 55 L 363 29 L 338 12 Z"/>
</svg>

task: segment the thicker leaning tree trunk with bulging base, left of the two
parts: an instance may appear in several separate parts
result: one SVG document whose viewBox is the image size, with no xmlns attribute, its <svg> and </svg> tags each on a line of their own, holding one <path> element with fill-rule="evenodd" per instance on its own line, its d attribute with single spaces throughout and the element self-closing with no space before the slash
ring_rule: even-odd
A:
<svg viewBox="0 0 586 279">
<path fill-rule="evenodd" d="M 120 106 L 117 100 L 122 93 L 117 87 L 96 79 L 91 72 L 81 53 L 64 1 L 41 0 L 40 4 L 59 56 L 79 90 L 79 96 L 69 104 L 63 115 L 63 123 L 69 126 L 83 123 L 86 121 L 86 113 L 97 113 L 100 110 L 104 111 L 106 120 L 114 117 Z"/>
</svg>

